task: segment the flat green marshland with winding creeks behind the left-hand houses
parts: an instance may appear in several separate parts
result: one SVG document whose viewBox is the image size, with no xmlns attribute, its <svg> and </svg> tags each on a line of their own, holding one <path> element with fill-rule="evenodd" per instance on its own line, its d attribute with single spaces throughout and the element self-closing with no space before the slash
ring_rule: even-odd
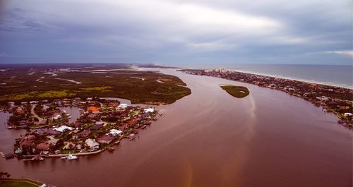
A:
<svg viewBox="0 0 353 187">
<path fill-rule="evenodd" d="M 67 68 L 65 64 L 52 66 L 4 65 L 1 68 L 8 68 L 8 70 L 0 72 L 0 102 L 73 97 L 119 97 L 130 99 L 133 103 L 170 104 L 191 94 L 189 88 L 179 86 L 186 84 L 176 76 L 164 75 L 155 71 L 133 71 L 126 67 L 114 64 L 82 69 L 76 67 L 80 70 L 70 72 L 54 71 L 54 69 Z M 94 71 L 97 69 L 100 70 L 99 73 Z M 109 71 L 101 71 L 104 69 Z M 57 76 L 52 76 L 47 72 L 55 73 Z M 134 77 L 143 78 L 143 80 Z M 71 83 L 64 79 L 75 80 L 80 84 Z M 163 83 L 159 83 L 157 80 Z"/>
</svg>

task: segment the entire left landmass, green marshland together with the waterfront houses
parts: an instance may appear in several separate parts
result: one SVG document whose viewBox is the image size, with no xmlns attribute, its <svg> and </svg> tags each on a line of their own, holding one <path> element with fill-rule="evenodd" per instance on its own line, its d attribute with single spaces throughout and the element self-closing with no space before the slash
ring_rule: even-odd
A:
<svg viewBox="0 0 353 187">
<path fill-rule="evenodd" d="M 0 155 L 24 161 L 114 151 L 113 145 L 135 140 L 138 130 L 162 115 L 116 97 L 153 105 L 191 94 L 177 76 L 131 64 L 1 65 L 0 80 L 0 111 L 11 114 L 8 129 L 28 129 L 16 139 L 13 152 Z M 78 119 L 69 123 L 72 116 L 64 107 L 76 107 Z"/>
</svg>

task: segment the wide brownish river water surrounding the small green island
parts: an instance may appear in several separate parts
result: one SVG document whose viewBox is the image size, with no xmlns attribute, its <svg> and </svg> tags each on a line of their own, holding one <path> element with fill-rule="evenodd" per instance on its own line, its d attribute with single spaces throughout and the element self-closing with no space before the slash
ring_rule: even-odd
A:
<svg viewBox="0 0 353 187">
<path fill-rule="evenodd" d="M 136 141 L 73 161 L 0 159 L 0 171 L 56 186 L 352 186 L 352 131 L 333 114 L 277 90 L 160 71 L 192 94 L 157 107 L 163 115 Z M 220 84 L 250 95 L 234 98 Z M 0 128 L 0 148 L 20 133 Z"/>
</svg>

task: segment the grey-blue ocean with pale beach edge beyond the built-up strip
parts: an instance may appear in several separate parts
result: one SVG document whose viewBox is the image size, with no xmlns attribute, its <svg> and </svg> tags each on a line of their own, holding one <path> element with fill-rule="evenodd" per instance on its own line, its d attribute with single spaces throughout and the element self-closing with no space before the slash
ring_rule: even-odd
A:
<svg viewBox="0 0 353 187">
<path fill-rule="evenodd" d="M 353 66 L 337 65 L 292 65 L 292 64 L 236 64 L 225 68 L 237 71 L 290 78 L 306 82 L 337 85 L 353 88 Z"/>
</svg>

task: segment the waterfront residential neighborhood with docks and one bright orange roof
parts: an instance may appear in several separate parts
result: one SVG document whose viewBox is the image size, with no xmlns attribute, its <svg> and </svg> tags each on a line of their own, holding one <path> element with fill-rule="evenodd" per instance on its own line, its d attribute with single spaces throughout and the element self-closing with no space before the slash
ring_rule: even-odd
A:
<svg viewBox="0 0 353 187">
<path fill-rule="evenodd" d="M 76 107 L 77 119 L 63 107 Z M 11 111 L 8 128 L 27 128 L 14 144 L 13 156 L 24 160 L 44 157 L 68 159 L 72 155 L 90 155 L 114 150 L 123 138 L 134 140 L 138 129 L 156 120 L 153 107 L 138 107 L 118 100 L 93 97 L 55 99 L 53 101 L 8 103 Z M 28 159 L 30 158 L 30 159 Z"/>
</svg>

